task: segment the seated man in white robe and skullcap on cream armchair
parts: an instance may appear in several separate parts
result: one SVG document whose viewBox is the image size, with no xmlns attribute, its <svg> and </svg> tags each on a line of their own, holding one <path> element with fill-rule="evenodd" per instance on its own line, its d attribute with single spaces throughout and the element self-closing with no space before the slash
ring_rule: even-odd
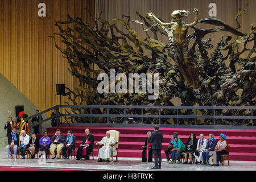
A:
<svg viewBox="0 0 256 182">
<path fill-rule="evenodd" d="M 103 137 L 100 142 L 96 143 L 96 146 L 99 144 L 103 144 L 104 146 L 100 148 L 98 151 L 98 162 L 102 162 L 102 159 L 107 159 L 109 162 L 109 158 L 111 156 L 111 150 L 115 150 L 115 139 L 114 137 L 110 137 L 110 133 L 106 132 L 106 137 Z"/>
</svg>

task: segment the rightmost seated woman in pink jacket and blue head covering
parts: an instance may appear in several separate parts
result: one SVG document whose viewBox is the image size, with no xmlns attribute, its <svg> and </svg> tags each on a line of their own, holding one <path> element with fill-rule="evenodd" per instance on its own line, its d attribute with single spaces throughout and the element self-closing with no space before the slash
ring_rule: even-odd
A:
<svg viewBox="0 0 256 182">
<path fill-rule="evenodd" d="M 221 162 L 221 155 L 229 154 L 228 152 L 228 144 L 226 143 L 226 135 L 220 134 L 220 140 L 218 140 L 218 143 L 214 149 L 216 151 L 216 158 L 217 158 L 217 164 L 214 164 L 214 166 L 218 166 L 218 162 Z"/>
</svg>

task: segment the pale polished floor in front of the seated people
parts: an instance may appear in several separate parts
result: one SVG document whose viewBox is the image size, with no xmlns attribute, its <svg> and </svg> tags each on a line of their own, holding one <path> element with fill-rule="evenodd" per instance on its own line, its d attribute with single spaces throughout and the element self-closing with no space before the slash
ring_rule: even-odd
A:
<svg viewBox="0 0 256 182">
<path fill-rule="evenodd" d="M 97 158 L 94 158 L 96 160 Z M 139 158 L 119 158 L 121 160 L 134 160 L 141 162 Z M 69 169 L 69 170 L 121 170 L 121 171 L 147 171 L 154 170 L 154 163 L 138 164 L 134 166 L 95 165 L 95 164 L 61 164 L 49 163 L 64 159 L 48 159 L 45 162 L 38 159 L 9 159 L 6 152 L 0 152 L 0 168 L 38 168 L 38 169 Z M 70 159 L 72 160 L 72 159 Z M 74 160 L 74 159 L 73 159 Z M 226 165 L 226 163 L 225 163 Z M 230 166 L 197 166 L 195 164 L 167 164 L 163 159 L 162 171 L 255 171 L 256 162 L 230 161 Z"/>
</svg>

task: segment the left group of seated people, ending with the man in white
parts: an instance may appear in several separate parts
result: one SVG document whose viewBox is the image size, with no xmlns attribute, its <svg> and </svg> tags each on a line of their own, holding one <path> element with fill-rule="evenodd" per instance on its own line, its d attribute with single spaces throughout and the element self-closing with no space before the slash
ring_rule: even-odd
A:
<svg viewBox="0 0 256 182">
<path fill-rule="evenodd" d="M 39 149 L 40 151 L 45 152 L 46 159 L 48 159 L 48 150 L 51 152 L 52 159 L 60 159 L 61 151 L 63 158 L 69 159 L 71 151 L 75 150 L 76 137 L 73 135 L 72 130 L 68 130 L 67 138 L 65 138 L 64 135 L 61 134 L 60 130 L 57 129 L 51 139 L 47 136 L 47 132 L 45 131 L 44 136 L 40 138 L 40 140 L 36 137 L 35 133 L 32 134 L 31 138 L 24 130 L 20 131 L 20 133 L 21 134 L 19 137 L 19 134 L 16 133 L 16 129 L 13 128 L 11 129 L 11 133 L 8 135 L 6 152 L 9 155 L 9 158 L 16 157 L 18 146 L 22 159 L 25 158 L 26 150 L 30 152 L 32 159 L 35 158 L 35 153 L 38 152 Z M 93 151 L 94 136 L 90 134 L 89 129 L 86 129 L 85 133 L 86 135 L 83 137 L 82 143 L 77 150 L 76 160 L 80 160 L 81 158 L 84 158 L 84 160 L 89 160 L 89 155 Z M 106 137 L 102 138 L 100 142 L 96 143 L 97 146 L 101 144 L 104 146 L 99 150 L 98 162 L 102 162 L 102 159 L 108 159 L 107 161 L 109 162 L 111 152 L 115 150 L 115 140 L 113 137 L 110 137 L 110 133 L 107 132 Z M 11 154 L 11 148 L 13 148 L 14 156 Z M 55 154 L 55 150 L 57 155 Z"/>
</svg>

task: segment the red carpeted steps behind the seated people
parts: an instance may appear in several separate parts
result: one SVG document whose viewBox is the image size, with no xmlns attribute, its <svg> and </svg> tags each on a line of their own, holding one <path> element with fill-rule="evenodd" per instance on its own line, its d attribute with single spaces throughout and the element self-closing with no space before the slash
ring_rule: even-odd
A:
<svg viewBox="0 0 256 182">
<path fill-rule="evenodd" d="M 84 123 L 85 124 L 85 123 Z M 60 129 L 61 133 L 67 137 L 67 131 L 71 129 L 73 135 L 76 136 L 76 150 L 82 143 L 82 137 L 85 135 L 85 129 L 89 128 L 90 133 L 94 135 L 95 142 L 99 142 L 106 136 L 108 130 L 118 130 L 120 132 L 118 157 L 121 158 L 141 158 L 142 146 L 146 140 L 147 131 L 153 132 L 152 127 L 106 127 L 106 126 L 60 126 L 49 127 L 47 129 L 48 136 L 51 138 L 56 129 Z M 197 139 L 203 133 L 208 139 L 209 133 L 213 133 L 218 141 L 221 133 L 227 136 L 227 143 L 230 145 L 230 160 L 240 161 L 256 161 L 256 130 L 247 129 L 187 129 L 187 128 L 164 128 L 159 129 L 163 133 L 164 142 L 162 143 L 162 158 L 166 159 L 164 150 L 166 150 L 170 138 L 174 132 L 179 134 L 182 142 L 187 142 L 191 133 L 195 133 Z M 42 137 L 42 134 L 38 135 Z M 94 156 L 98 156 L 98 148 L 94 144 Z"/>
</svg>

